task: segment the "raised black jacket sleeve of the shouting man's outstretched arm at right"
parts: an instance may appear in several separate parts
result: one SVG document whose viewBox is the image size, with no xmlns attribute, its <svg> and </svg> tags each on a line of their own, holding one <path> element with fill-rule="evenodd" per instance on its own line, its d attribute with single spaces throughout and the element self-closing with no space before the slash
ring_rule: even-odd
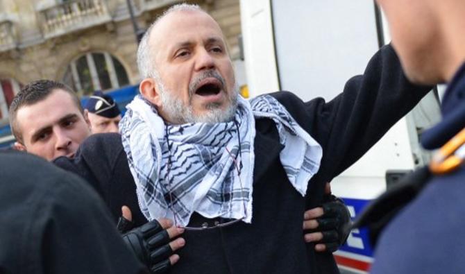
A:
<svg viewBox="0 0 465 274">
<path fill-rule="evenodd" d="M 350 78 L 344 92 L 328 103 L 321 98 L 304 103 L 289 92 L 273 96 L 321 144 L 323 158 L 312 181 L 321 182 L 316 185 L 322 194 L 324 182 L 360 159 L 430 89 L 409 83 L 388 45 L 375 53 L 363 75 Z M 312 185 L 309 191 L 314 191 Z"/>
</svg>

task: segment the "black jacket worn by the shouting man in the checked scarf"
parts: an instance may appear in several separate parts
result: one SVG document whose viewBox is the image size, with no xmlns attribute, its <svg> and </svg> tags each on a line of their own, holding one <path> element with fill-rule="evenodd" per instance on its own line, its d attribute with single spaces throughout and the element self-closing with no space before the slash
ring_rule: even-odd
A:
<svg viewBox="0 0 465 274">
<path fill-rule="evenodd" d="M 186 245 L 178 252 L 180 261 L 171 272 L 339 273 L 331 254 L 316 253 L 313 244 L 304 243 L 303 212 L 319 205 L 325 183 L 366 153 L 428 89 L 407 82 L 396 54 L 387 46 L 372 58 L 364 76 L 348 80 L 344 92 L 328 103 L 323 99 L 305 103 L 290 92 L 271 94 L 323 147 L 321 167 L 309 182 L 307 196 L 303 198 L 291 186 L 280 164 L 282 146 L 275 123 L 257 119 L 252 224 L 239 222 L 221 229 L 185 232 Z M 125 160 L 120 137 L 99 135 L 83 143 L 75 160 L 62 157 L 56 162 L 84 174 L 97 188 L 133 191 L 121 198 L 101 190 L 110 207 L 117 208 L 115 200 L 134 204 L 136 198 Z M 101 162 L 119 166 L 103 164 L 111 170 L 101 171 Z M 116 209 L 112 212 L 119 215 Z M 189 225 L 214 221 L 194 214 Z"/>
</svg>

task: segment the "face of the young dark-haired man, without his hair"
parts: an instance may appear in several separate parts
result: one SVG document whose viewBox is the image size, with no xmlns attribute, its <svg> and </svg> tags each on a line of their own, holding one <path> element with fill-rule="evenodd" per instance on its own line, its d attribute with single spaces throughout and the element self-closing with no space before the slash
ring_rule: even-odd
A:
<svg viewBox="0 0 465 274">
<path fill-rule="evenodd" d="M 90 135 L 90 126 L 71 96 L 54 90 L 49 96 L 17 111 L 18 130 L 22 133 L 20 150 L 47 160 L 74 156 L 79 144 Z"/>
</svg>

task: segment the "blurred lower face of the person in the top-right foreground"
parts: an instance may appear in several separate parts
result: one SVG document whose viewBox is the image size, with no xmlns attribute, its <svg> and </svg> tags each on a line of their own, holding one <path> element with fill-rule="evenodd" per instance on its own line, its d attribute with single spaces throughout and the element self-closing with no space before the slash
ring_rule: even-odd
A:
<svg viewBox="0 0 465 274">
<path fill-rule="evenodd" d="M 392 44 L 409 80 L 422 84 L 445 80 L 440 71 L 444 47 L 434 11 L 437 1 L 377 1 L 387 17 Z"/>
</svg>

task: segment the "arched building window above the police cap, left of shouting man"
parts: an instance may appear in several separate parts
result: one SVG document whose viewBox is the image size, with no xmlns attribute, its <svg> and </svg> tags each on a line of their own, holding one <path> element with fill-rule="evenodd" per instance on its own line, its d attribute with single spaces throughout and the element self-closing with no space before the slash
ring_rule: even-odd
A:
<svg viewBox="0 0 465 274">
<path fill-rule="evenodd" d="M 62 80 L 83 95 L 129 85 L 126 69 L 106 52 L 87 53 L 76 58 L 68 65 Z"/>
</svg>

